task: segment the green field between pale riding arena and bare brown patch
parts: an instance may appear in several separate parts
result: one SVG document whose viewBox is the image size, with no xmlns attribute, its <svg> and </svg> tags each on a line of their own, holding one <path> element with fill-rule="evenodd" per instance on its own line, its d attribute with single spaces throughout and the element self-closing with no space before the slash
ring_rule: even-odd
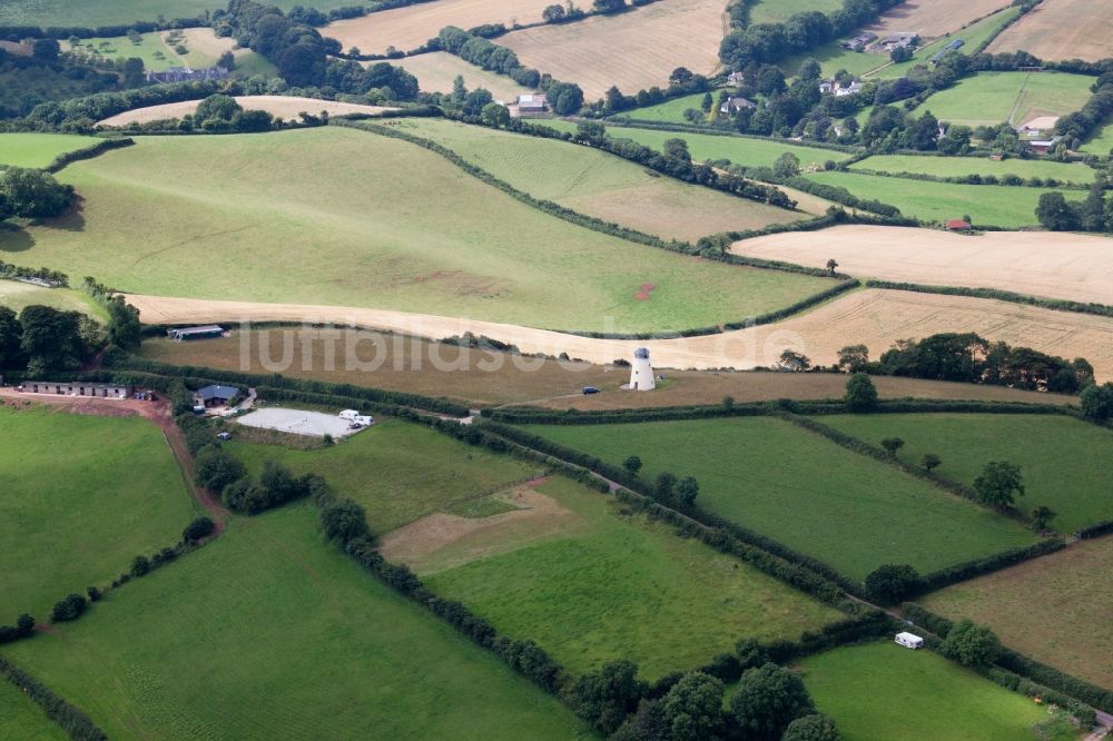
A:
<svg viewBox="0 0 1113 741">
<path fill-rule="evenodd" d="M 396 419 L 377 421 L 334 447 L 297 451 L 234 438 L 228 449 L 253 472 L 273 460 L 298 474 L 325 476 L 337 494 L 364 506 L 380 534 L 539 473 L 535 466 Z"/>
</svg>

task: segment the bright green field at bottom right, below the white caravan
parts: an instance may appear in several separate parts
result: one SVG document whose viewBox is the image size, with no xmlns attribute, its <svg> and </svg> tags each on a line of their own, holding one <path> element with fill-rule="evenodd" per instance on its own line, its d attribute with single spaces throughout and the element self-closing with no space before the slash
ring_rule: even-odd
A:
<svg viewBox="0 0 1113 741">
<path fill-rule="evenodd" d="M 886 641 L 846 646 L 801 662 L 816 708 L 846 741 L 1068 741 L 1036 735 L 1046 708 L 930 651 Z"/>
</svg>

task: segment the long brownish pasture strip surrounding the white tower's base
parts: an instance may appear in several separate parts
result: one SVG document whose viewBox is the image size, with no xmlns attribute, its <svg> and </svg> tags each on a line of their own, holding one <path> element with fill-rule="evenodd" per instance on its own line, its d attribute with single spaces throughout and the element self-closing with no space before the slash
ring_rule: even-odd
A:
<svg viewBox="0 0 1113 741">
<path fill-rule="evenodd" d="M 334 363 L 329 367 L 326 348 L 348 346 L 354 347 L 354 360 L 381 365 L 374 370 L 361 369 L 355 362 L 351 365 Z M 245 347 L 246 356 L 240 352 Z M 141 348 L 144 357 L 171 365 L 258 374 L 273 373 L 275 366 L 264 365 L 264 359 L 280 358 L 284 352 L 293 353 L 294 362 L 282 370 L 289 377 L 443 396 L 471 408 L 511 403 L 578 409 L 678 406 L 719 404 L 728 395 L 738 402 L 838 398 L 846 383 L 845 377 L 830 374 L 673 370 L 668 374 L 668 383 L 659 384 L 652 394 L 627 394 L 619 392 L 619 386 L 630 378 L 629 370 L 622 367 L 461 349 L 402 335 L 375 337 L 358 329 L 237 329 L 230 337 L 197 343 L 151 338 L 145 340 Z M 304 357 L 309 358 L 305 364 L 302 363 Z M 1077 402 L 1077 397 L 1058 394 L 896 376 L 877 377 L 874 384 L 884 398 Z M 583 395 L 580 389 L 585 385 L 604 393 Z"/>
</svg>

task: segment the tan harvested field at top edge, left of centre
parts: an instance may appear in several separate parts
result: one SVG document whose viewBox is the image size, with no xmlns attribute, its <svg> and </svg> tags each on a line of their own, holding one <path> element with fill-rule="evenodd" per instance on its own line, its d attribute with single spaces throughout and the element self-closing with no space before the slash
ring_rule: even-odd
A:
<svg viewBox="0 0 1113 741">
<path fill-rule="evenodd" d="M 329 23 L 323 31 L 345 50 L 383 53 L 387 47 L 412 51 L 436 37 L 445 26 L 474 28 L 484 23 L 536 23 L 552 0 L 437 0 L 394 8 L 363 18 Z"/>
</svg>

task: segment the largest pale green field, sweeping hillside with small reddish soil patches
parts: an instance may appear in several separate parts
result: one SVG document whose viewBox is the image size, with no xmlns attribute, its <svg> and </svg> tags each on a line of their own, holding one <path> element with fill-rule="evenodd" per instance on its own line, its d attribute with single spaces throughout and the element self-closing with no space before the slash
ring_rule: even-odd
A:
<svg viewBox="0 0 1113 741">
<path fill-rule="evenodd" d="M 130 293 L 631 332 L 738 320 L 831 285 L 575 227 L 421 147 L 339 127 L 144 137 L 60 177 L 80 213 L 0 234 L 0 258 Z"/>
</svg>

